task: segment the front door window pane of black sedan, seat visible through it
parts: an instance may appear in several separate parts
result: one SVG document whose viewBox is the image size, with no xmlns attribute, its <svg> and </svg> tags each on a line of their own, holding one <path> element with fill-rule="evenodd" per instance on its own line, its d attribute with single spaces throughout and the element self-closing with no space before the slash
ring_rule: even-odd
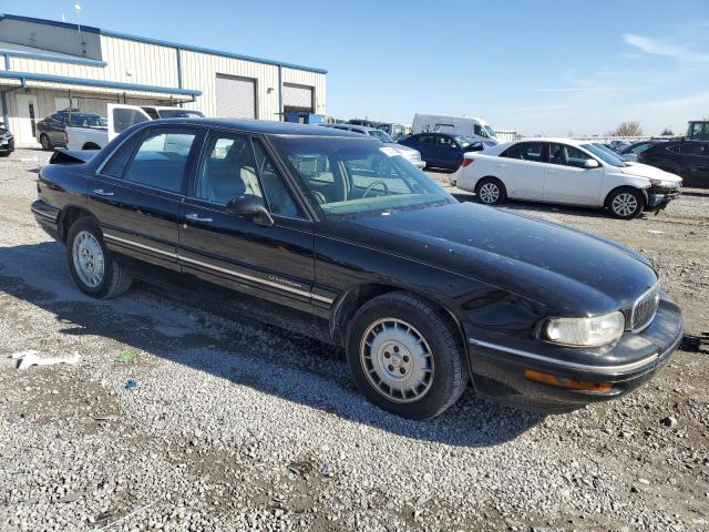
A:
<svg viewBox="0 0 709 532">
<path fill-rule="evenodd" d="M 213 134 L 197 173 L 195 196 L 226 205 L 245 194 L 263 196 L 248 137 Z"/>
</svg>

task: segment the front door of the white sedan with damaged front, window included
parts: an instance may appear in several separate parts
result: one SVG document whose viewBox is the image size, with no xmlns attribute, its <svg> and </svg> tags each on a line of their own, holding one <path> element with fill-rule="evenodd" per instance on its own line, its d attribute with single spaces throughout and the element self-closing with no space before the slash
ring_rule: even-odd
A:
<svg viewBox="0 0 709 532">
<path fill-rule="evenodd" d="M 575 205 L 600 205 L 603 165 L 586 168 L 587 160 L 594 158 L 575 146 L 562 143 L 549 144 L 549 162 L 544 177 L 544 200 Z"/>
</svg>

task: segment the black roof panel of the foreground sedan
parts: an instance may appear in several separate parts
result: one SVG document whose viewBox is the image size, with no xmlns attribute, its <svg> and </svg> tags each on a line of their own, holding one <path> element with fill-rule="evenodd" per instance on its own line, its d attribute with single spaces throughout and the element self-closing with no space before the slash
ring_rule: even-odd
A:
<svg viewBox="0 0 709 532">
<path fill-rule="evenodd" d="M 193 124 L 212 127 L 227 127 L 246 133 L 264 135 L 296 135 L 296 136 L 348 136 L 362 139 L 360 133 L 337 130 L 335 127 L 318 127 L 315 124 L 297 124 L 294 122 L 274 122 L 270 120 L 236 120 L 236 119 L 165 119 L 142 122 L 147 125 Z"/>
</svg>

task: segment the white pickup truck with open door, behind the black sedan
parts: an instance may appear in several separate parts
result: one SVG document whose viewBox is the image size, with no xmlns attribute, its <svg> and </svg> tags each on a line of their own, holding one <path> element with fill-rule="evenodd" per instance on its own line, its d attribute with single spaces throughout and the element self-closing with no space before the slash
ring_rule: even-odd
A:
<svg viewBox="0 0 709 532">
<path fill-rule="evenodd" d="M 131 125 L 158 119 L 198 119 L 199 111 L 161 105 L 109 104 L 107 127 L 66 127 L 68 150 L 101 150 Z"/>
</svg>

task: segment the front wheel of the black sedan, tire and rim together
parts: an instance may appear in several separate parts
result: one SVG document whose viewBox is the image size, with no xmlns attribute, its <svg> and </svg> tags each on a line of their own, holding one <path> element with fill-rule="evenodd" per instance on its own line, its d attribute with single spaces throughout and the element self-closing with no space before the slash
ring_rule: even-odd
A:
<svg viewBox="0 0 709 532">
<path fill-rule="evenodd" d="M 346 351 L 364 397 L 403 418 L 439 416 L 467 383 L 455 329 L 431 305 L 405 291 L 364 304 L 350 321 Z"/>
</svg>

